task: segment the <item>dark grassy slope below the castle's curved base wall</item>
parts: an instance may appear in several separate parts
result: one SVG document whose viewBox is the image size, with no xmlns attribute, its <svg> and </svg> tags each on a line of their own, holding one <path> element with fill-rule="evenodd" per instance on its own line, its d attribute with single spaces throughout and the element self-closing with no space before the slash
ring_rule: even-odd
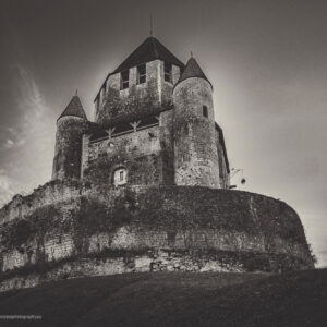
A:
<svg viewBox="0 0 327 327">
<path fill-rule="evenodd" d="M 126 274 L 0 293 L 0 326 L 327 326 L 327 269 Z"/>
</svg>

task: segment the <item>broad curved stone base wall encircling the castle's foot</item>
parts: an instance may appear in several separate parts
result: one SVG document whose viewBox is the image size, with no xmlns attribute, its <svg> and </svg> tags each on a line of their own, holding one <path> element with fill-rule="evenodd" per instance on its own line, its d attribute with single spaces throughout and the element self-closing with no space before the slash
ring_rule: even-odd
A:
<svg viewBox="0 0 327 327">
<path fill-rule="evenodd" d="M 32 195 L 33 209 L 20 215 L 17 204 L 1 209 L 11 217 L 0 227 L 2 288 L 10 280 L 29 284 L 34 275 L 47 280 L 130 270 L 314 267 L 296 213 L 270 197 L 207 187 L 106 184 L 74 184 L 69 197 L 69 187 L 63 182 L 45 185 Z M 23 197 L 21 204 L 28 201 L 31 196 Z"/>
</svg>

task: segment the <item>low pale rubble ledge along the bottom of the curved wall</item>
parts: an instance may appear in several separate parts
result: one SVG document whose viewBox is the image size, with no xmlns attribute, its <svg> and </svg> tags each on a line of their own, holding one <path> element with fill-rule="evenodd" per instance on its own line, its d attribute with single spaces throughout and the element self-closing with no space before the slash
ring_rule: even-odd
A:
<svg viewBox="0 0 327 327">
<path fill-rule="evenodd" d="M 84 276 L 155 271 L 245 272 L 255 271 L 257 268 L 262 269 L 263 266 L 267 270 L 272 266 L 276 271 L 281 271 L 282 269 L 296 269 L 299 265 L 301 265 L 299 258 L 280 254 L 166 250 L 107 252 L 98 256 L 59 261 L 52 265 L 49 264 L 47 269 L 45 267 L 34 270 L 26 269 L 24 274 L 12 274 L 2 279 L 0 276 L 0 292 Z"/>
</svg>

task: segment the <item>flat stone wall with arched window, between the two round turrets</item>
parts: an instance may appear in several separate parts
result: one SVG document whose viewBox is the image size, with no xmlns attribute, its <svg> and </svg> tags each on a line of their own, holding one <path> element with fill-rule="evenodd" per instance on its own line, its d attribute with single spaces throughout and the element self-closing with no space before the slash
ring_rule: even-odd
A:
<svg viewBox="0 0 327 327">
<path fill-rule="evenodd" d="M 117 137 L 90 142 L 83 138 L 82 175 L 93 183 L 113 184 L 113 172 L 124 168 L 128 184 L 172 184 L 172 111 L 159 116 L 159 125 Z"/>
</svg>

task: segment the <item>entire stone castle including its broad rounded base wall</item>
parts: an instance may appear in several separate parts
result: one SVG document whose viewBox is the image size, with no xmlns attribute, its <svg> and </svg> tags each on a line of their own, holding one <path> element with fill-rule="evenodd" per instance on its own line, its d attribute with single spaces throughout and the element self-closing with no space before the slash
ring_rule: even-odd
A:
<svg viewBox="0 0 327 327">
<path fill-rule="evenodd" d="M 0 209 L 0 291 L 75 276 L 312 267 L 291 207 L 230 190 L 211 83 L 154 37 L 108 74 L 92 121 L 72 98 L 51 181 Z"/>
</svg>

